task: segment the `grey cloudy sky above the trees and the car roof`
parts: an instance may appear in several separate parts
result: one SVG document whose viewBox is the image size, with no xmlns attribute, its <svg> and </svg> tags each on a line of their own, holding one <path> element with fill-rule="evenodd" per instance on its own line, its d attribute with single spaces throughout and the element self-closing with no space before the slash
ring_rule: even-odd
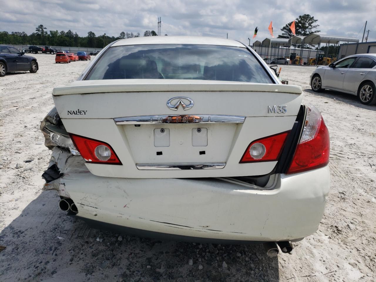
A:
<svg viewBox="0 0 376 282">
<path fill-rule="evenodd" d="M 121 31 L 157 31 L 162 17 L 162 34 L 204 35 L 248 42 L 255 27 L 262 41 L 273 21 L 274 35 L 299 15 L 313 15 L 321 33 L 346 35 L 362 40 L 368 20 L 369 41 L 376 41 L 374 0 L 0 0 L 0 31 L 35 32 L 43 24 L 49 30 L 71 29 L 80 36 L 118 36 Z M 367 32 L 366 32 L 367 34 Z M 366 36 L 366 35 L 365 35 Z"/>
</svg>

